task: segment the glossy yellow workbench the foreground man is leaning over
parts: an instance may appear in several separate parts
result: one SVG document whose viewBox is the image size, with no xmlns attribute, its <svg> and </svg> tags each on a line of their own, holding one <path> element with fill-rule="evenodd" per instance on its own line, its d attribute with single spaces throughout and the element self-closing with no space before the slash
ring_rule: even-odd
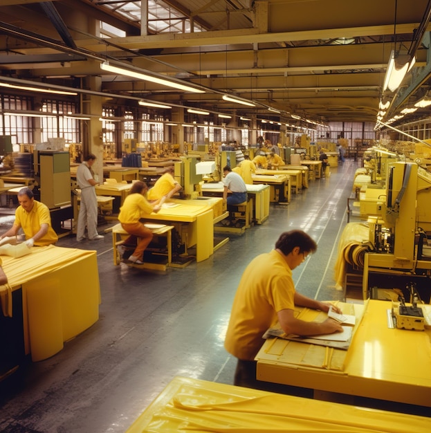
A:
<svg viewBox="0 0 431 433">
<path fill-rule="evenodd" d="M 302 351 L 316 346 L 277 338 L 266 340 L 257 353 L 257 379 L 311 388 L 316 395 L 323 391 L 431 407 L 431 329 L 390 329 L 387 310 L 392 304 L 387 301 L 338 304 L 345 313 L 352 305 L 363 318 L 341 369 L 327 369 L 323 362 L 319 366 L 318 360 L 306 365 Z"/>
</svg>

